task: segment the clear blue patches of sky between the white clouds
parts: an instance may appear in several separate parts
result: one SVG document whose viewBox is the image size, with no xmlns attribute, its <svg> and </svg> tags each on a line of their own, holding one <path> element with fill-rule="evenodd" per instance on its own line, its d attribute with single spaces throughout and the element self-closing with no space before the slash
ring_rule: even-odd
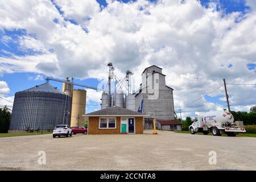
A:
<svg viewBox="0 0 256 182">
<path fill-rule="evenodd" d="M 102 6 L 107 6 L 107 3 L 105 0 L 97 0 L 98 3 Z M 130 1 L 123 0 L 122 2 L 127 3 Z M 154 2 L 153 0 L 151 2 Z M 209 6 L 209 3 L 215 2 L 217 3 L 217 10 L 224 10 L 225 14 L 231 14 L 233 12 L 242 12 L 243 14 L 246 14 L 250 12 L 250 7 L 246 6 L 245 1 L 235 1 L 235 0 L 222 0 L 222 1 L 207 1 L 207 0 L 201 0 L 201 5 L 204 7 Z M 57 7 L 57 6 L 56 6 Z M 57 7 L 60 14 L 63 14 L 59 7 Z M 72 22 L 74 24 L 77 24 L 76 20 L 74 19 L 68 19 L 65 18 L 65 20 Z M 57 19 L 54 20 L 55 23 L 58 23 Z M 86 28 L 85 28 L 86 29 Z M 14 29 L 9 30 L 7 28 L 0 29 L 0 57 L 14 57 L 14 56 L 27 56 L 27 55 L 40 55 L 42 52 L 35 51 L 33 49 L 22 49 L 19 44 L 19 39 L 21 36 L 31 36 L 32 38 L 36 39 L 35 34 L 27 34 L 26 29 Z M 5 38 L 11 38 L 11 40 L 6 40 Z M 6 41 L 5 41 L 6 40 Z M 49 52 L 51 52 L 51 49 L 48 49 Z M 231 64 L 230 64 L 231 65 Z M 230 69 L 232 69 L 232 66 L 229 66 Z M 72 68 L 72 67 L 71 67 Z M 251 63 L 247 64 L 247 68 L 250 70 L 255 69 L 255 64 L 253 60 Z M 106 69 L 107 71 L 107 69 Z M 14 73 L 3 73 L 3 75 L 0 77 L 1 81 L 7 82 L 10 93 L 9 94 L 15 94 L 15 92 L 18 92 L 20 90 L 24 90 L 27 88 L 30 88 L 35 85 L 43 84 L 45 81 L 42 79 L 44 78 L 44 72 L 42 73 L 31 73 L 31 72 L 14 72 Z M 39 80 L 35 80 L 37 75 L 41 75 Z M 70 76 L 70 75 L 67 75 Z M 92 85 L 97 86 L 100 81 L 98 81 L 96 78 L 88 78 L 85 80 L 75 79 L 74 80 L 77 83 L 86 84 L 86 85 Z M 53 86 L 57 86 L 59 89 L 61 89 L 61 84 L 59 82 L 50 82 Z M 172 87 L 172 85 L 170 85 Z M 209 102 L 213 102 L 216 104 L 220 104 L 225 106 L 226 103 L 223 101 L 220 101 L 220 98 L 222 96 L 214 96 L 214 97 L 205 97 L 205 99 Z M 90 111 L 94 111 L 95 109 L 100 109 L 100 105 L 98 105 L 96 102 L 88 102 L 87 103 L 87 110 L 86 113 L 89 113 Z"/>
</svg>

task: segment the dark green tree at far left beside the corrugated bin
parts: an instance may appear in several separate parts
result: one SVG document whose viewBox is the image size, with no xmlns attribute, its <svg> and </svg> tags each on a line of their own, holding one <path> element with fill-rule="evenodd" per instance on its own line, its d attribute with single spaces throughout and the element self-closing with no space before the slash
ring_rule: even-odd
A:
<svg viewBox="0 0 256 182">
<path fill-rule="evenodd" d="M 0 133 L 8 133 L 11 122 L 11 113 L 5 106 L 0 108 Z"/>
</svg>

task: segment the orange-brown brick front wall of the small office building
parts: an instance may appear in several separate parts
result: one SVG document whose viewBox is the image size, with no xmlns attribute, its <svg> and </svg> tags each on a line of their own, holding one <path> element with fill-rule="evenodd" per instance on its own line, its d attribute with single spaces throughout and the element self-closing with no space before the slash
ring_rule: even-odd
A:
<svg viewBox="0 0 256 182">
<path fill-rule="evenodd" d="M 121 117 L 117 117 L 116 129 L 99 129 L 100 117 L 89 117 L 88 134 L 120 134 L 121 133 Z M 135 133 L 143 134 L 143 117 L 135 117 Z"/>
</svg>

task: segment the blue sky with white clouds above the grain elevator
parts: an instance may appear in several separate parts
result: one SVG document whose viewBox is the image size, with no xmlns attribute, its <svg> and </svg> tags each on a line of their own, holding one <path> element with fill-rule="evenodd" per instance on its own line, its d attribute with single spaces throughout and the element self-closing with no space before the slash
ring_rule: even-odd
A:
<svg viewBox="0 0 256 182">
<path fill-rule="evenodd" d="M 108 61 L 134 90 L 144 68 L 163 68 L 184 117 L 226 109 L 223 78 L 232 110 L 256 105 L 254 0 L 2 0 L 0 16 L 0 107 L 46 77 L 97 86 Z M 100 97 L 87 89 L 86 113 Z"/>
</svg>

